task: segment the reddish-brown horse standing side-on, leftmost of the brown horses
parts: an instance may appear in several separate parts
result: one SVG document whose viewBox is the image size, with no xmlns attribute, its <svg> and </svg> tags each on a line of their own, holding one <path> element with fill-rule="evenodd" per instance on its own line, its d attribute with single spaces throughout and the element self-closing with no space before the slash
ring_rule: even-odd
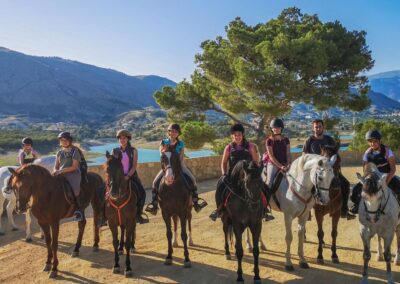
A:
<svg viewBox="0 0 400 284">
<path fill-rule="evenodd" d="M 22 213 L 28 209 L 28 203 L 32 198 L 32 214 L 38 219 L 47 245 L 47 261 L 43 271 L 50 271 L 49 277 L 57 276 L 57 249 L 60 220 L 71 217 L 74 211 L 72 193 L 68 181 L 63 177 L 54 177 L 50 172 L 39 165 L 26 165 L 14 170 L 9 169 L 12 176 L 10 183 L 17 197 L 17 212 Z M 98 251 L 99 228 L 96 226 L 103 208 L 104 182 L 95 173 L 87 174 L 88 181 L 81 185 L 82 209 L 89 203 L 93 207 L 94 244 L 93 250 Z M 79 255 L 86 219 L 78 222 L 78 239 L 72 256 Z M 53 265 L 52 265 L 53 264 Z"/>
</svg>

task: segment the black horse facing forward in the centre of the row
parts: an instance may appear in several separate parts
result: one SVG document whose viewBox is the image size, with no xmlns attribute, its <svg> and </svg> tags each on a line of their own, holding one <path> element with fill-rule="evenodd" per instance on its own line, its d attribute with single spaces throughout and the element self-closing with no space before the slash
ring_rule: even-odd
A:
<svg viewBox="0 0 400 284">
<path fill-rule="evenodd" d="M 253 238 L 254 256 L 254 283 L 261 283 L 258 267 L 260 254 L 258 242 L 262 228 L 263 205 L 261 201 L 264 187 L 261 178 L 262 167 L 254 162 L 239 161 L 232 170 L 230 185 L 225 185 L 229 195 L 225 201 L 226 210 L 222 213 L 221 220 L 225 236 L 225 257 L 229 260 L 229 243 L 235 235 L 236 257 L 238 262 L 237 282 L 243 283 L 243 246 L 242 234 L 248 227 Z"/>
</svg>

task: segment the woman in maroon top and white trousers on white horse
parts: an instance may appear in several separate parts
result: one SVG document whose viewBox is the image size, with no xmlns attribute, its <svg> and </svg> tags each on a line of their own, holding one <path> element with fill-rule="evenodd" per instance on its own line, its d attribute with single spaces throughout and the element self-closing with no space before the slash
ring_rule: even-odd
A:
<svg viewBox="0 0 400 284">
<path fill-rule="evenodd" d="M 278 172 L 287 172 L 290 168 L 290 141 L 282 134 L 284 127 L 282 119 L 273 119 L 270 123 L 272 135 L 265 142 L 263 163 L 267 173 L 267 190 L 271 190 L 270 194 L 273 193 L 272 187 L 276 187 L 274 180 Z"/>
</svg>

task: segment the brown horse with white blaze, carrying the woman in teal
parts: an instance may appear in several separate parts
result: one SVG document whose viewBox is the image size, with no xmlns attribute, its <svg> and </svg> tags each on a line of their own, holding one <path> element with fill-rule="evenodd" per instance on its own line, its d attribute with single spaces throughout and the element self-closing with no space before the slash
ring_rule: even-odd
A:
<svg viewBox="0 0 400 284">
<path fill-rule="evenodd" d="M 162 153 L 161 168 L 164 171 L 164 176 L 160 183 L 158 199 L 167 227 L 168 255 L 165 259 L 165 264 L 172 264 L 171 218 L 177 216 L 181 222 L 181 238 L 185 256 L 184 267 L 188 268 L 191 267 L 191 262 L 187 247 L 186 221 L 188 219 L 188 207 L 191 200 L 189 190 L 186 188 L 183 180 L 179 154 L 175 151 Z"/>
</svg>

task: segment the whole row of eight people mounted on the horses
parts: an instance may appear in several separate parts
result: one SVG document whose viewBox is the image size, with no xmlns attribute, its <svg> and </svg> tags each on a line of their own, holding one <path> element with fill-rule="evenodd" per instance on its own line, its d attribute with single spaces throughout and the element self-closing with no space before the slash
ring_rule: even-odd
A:
<svg viewBox="0 0 400 284">
<path fill-rule="evenodd" d="M 320 119 L 312 122 L 313 135 L 310 136 L 303 145 L 303 154 L 321 154 L 321 147 L 335 148 L 336 142 L 329 135 L 324 134 L 324 123 Z M 242 124 L 235 124 L 231 127 L 232 142 L 226 145 L 221 161 L 222 177 L 218 181 L 217 191 L 215 194 L 217 209 L 214 210 L 210 218 L 215 221 L 224 210 L 224 198 L 226 189 L 229 187 L 230 174 L 237 162 L 241 160 L 253 161 L 258 166 L 264 166 L 266 174 L 264 195 L 269 199 L 274 191 L 278 188 L 282 173 L 290 169 L 290 141 L 289 138 L 283 135 L 284 123 L 282 119 L 273 119 L 270 123 L 271 135 L 265 141 L 266 152 L 263 154 L 262 160 L 258 158 L 256 146 L 249 142 L 245 137 L 245 129 Z M 170 124 L 167 128 L 167 138 L 161 140 L 160 153 L 175 151 L 179 154 L 182 172 L 187 188 L 192 195 L 193 207 L 196 212 L 207 206 L 207 203 L 198 197 L 197 184 L 192 172 L 184 163 L 185 144 L 179 139 L 181 134 L 180 126 L 176 123 Z M 138 213 L 137 220 L 139 223 L 148 223 L 148 219 L 143 216 L 143 209 L 146 199 L 146 192 L 140 181 L 137 173 L 138 151 L 131 145 L 132 135 L 122 129 L 117 132 L 119 147 L 113 149 L 112 154 L 121 157 L 121 163 L 126 180 L 132 183 L 132 189 L 135 190 L 138 197 Z M 369 143 L 369 148 L 363 156 L 363 164 L 368 162 L 376 164 L 377 168 L 382 173 L 387 173 L 388 186 L 394 191 L 396 196 L 400 196 L 400 180 L 395 176 L 396 163 L 393 152 L 384 144 L 381 143 L 381 134 L 378 130 L 368 131 L 365 139 Z M 64 176 L 72 189 L 74 203 L 77 210 L 74 213 L 74 219 L 81 221 L 84 218 L 82 206 L 80 204 L 79 193 L 81 183 L 86 180 L 87 164 L 83 156 L 82 150 L 73 144 L 73 137 L 69 132 L 61 132 L 58 135 L 60 150 L 56 154 L 53 175 Z M 22 140 L 22 149 L 18 153 L 18 163 L 22 166 L 32 163 L 38 159 L 38 153 L 33 149 L 33 140 L 26 137 Z M 340 166 L 340 165 L 339 165 Z M 156 215 L 158 210 L 158 188 L 160 186 L 163 171 L 161 170 L 154 179 L 152 187 L 152 201 L 148 204 L 146 211 Z M 340 173 L 339 179 L 341 184 L 341 192 L 343 200 L 348 200 L 350 192 L 350 183 Z M 348 212 L 347 202 L 343 202 L 341 208 L 341 216 L 343 218 L 352 219 L 354 214 L 358 213 L 358 203 L 361 199 L 362 185 L 359 183 L 353 188 L 350 199 L 354 206 Z M 265 206 L 264 218 L 266 221 L 274 219 L 270 215 L 270 210 Z"/>
</svg>

